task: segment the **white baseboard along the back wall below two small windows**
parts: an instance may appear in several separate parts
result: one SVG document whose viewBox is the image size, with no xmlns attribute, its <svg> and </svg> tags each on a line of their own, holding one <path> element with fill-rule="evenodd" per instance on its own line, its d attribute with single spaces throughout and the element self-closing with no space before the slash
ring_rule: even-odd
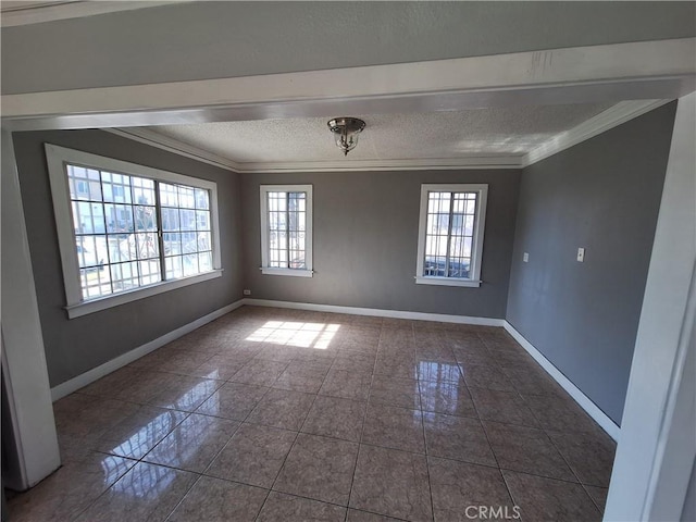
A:
<svg viewBox="0 0 696 522">
<path fill-rule="evenodd" d="M 447 315 L 444 313 L 408 312 L 382 310 L 378 308 L 339 307 L 336 304 L 314 304 L 311 302 L 273 301 L 269 299 L 243 299 L 244 304 L 253 307 L 291 308 L 310 312 L 348 313 L 351 315 L 374 315 L 376 318 L 410 319 L 415 321 L 437 321 L 440 323 L 475 324 L 478 326 L 504 326 L 504 319 Z"/>
</svg>

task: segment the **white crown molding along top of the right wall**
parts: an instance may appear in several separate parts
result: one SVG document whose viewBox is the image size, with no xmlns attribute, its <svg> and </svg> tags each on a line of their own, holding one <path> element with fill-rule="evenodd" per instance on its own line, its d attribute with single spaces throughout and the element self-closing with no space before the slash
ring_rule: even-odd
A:
<svg viewBox="0 0 696 522">
<path fill-rule="evenodd" d="M 658 107 L 669 103 L 671 100 L 631 100 L 620 101 L 594 117 L 580 125 L 560 133 L 527 152 L 520 166 L 529 166 L 537 161 L 542 161 L 550 156 L 557 154 L 566 149 L 593 138 L 601 133 L 617 127 L 634 117 L 638 117 Z"/>
</svg>

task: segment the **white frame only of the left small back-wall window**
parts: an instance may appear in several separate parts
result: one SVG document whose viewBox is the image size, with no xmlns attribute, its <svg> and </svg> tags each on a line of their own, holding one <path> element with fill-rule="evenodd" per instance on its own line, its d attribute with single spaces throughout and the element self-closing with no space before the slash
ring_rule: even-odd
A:
<svg viewBox="0 0 696 522">
<path fill-rule="evenodd" d="M 261 273 L 265 275 L 289 275 L 312 277 L 312 185 L 261 185 Z M 278 269 L 269 266 L 269 192 L 307 194 L 307 215 L 304 223 L 304 269 Z"/>
</svg>

